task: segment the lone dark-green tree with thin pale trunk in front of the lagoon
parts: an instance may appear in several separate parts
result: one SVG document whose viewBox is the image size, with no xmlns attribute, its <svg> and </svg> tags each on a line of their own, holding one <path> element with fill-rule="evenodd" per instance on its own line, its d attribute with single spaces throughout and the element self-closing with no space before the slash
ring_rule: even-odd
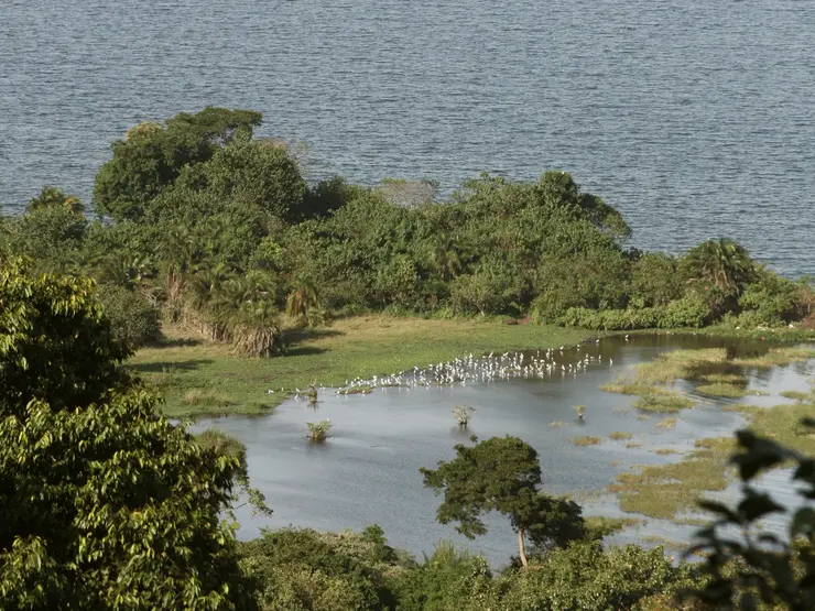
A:
<svg viewBox="0 0 815 611">
<path fill-rule="evenodd" d="M 475 437 L 474 437 L 475 440 Z M 434 471 L 422 468 L 424 484 L 444 502 L 436 513 L 438 522 L 457 522 L 456 530 L 467 538 L 487 533 L 480 516 L 497 511 L 510 519 L 518 535 L 521 564 L 528 566 L 524 537 L 536 545 L 564 545 L 583 536 L 579 511 L 561 511 L 562 502 L 537 491 L 541 465 L 532 446 L 518 437 L 492 437 L 475 446 L 459 444 L 456 458 L 442 461 Z M 548 519 L 556 512 L 559 520 Z M 568 521 L 568 527 L 564 521 Z"/>
</svg>

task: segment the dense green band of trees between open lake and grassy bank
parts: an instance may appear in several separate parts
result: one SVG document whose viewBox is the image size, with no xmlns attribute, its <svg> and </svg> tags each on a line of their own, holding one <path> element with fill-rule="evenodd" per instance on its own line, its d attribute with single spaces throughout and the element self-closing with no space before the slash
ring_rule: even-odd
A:
<svg viewBox="0 0 815 611">
<path fill-rule="evenodd" d="M 620 214 L 564 172 L 482 175 L 448 201 L 391 181 L 307 185 L 260 113 L 207 108 L 142 123 L 112 145 L 94 211 L 46 187 L 2 242 L 43 270 L 89 274 L 131 342 L 183 319 L 246 354 L 304 325 L 369 310 L 506 315 L 591 329 L 780 326 L 815 292 L 721 239 L 680 258 L 626 247 Z M 420 185 L 426 187 L 427 185 Z"/>
</svg>

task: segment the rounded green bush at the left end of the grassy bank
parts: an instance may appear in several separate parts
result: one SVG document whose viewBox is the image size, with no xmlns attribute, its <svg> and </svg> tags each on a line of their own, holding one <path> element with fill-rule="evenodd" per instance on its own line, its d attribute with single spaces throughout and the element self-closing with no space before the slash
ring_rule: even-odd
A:
<svg viewBox="0 0 815 611">
<path fill-rule="evenodd" d="M 143 294 L 115 284 L 101 284 L 97 296 L 119 341 L 139 348 L 159 337 L 159 310 Z"/>
</svg>

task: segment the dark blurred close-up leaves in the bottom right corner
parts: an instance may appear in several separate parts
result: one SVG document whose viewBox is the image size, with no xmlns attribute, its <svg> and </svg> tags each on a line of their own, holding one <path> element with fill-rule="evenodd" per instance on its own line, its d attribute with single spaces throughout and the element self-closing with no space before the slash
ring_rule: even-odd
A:
<svg viewBox="0 0 815 611">
<path fill-rule="evenodd" d="M 815 421 L 802 421 L 803 433 L 812 435 Z M 704 588 L 686 592 L 717 608 L 756 609 L 759 601 L 772 608 L 793 611 L 812 608 L 815 596 L 815 459 L 768 437 L 750 430 L 737 433 L 738 452 L 732 462 L 738 466 L 743 482 L 738 505 L 705 501 L 702 508 L 717 520 L 699 531 L 699 544 L 691 552 L 704 553 L 704 568 L 709 576 Z M 774 513 L 787 513 L 786 508 L 768 492 L 753 485 L 767 469 L 793 466 L 792 480 L 804 504 L 792 512 L 789 539 L 761 532 L 761 520 Z M 735 537 L 727 527 L 736 526 L 741 536 Z"/>
</svg>

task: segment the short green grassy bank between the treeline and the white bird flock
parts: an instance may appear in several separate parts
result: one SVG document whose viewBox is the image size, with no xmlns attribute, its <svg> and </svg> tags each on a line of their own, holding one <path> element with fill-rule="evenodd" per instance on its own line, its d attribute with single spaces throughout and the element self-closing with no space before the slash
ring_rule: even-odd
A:
<svg viewBox="0 0 815 611">
<path fill-rule="evenodd" d="M 202 340 L 181 327 L 164 329 L 156 347 L 144 348 L 128 367 L 166 396 L 170 416 L 258 414 L 286 393 L 317 385 L 340 386 L 357 377 L 390 374 L 464 354 L 574 345 L 591 334 L 545 325 L 499 320 L 428 320 L 360 316 L 330 327 L 289 330 L 289 350 L 272 359 L 237 357 L 231 347 Z M 274 389 L 274 394 L 268 394 Z"/>
</svg>

